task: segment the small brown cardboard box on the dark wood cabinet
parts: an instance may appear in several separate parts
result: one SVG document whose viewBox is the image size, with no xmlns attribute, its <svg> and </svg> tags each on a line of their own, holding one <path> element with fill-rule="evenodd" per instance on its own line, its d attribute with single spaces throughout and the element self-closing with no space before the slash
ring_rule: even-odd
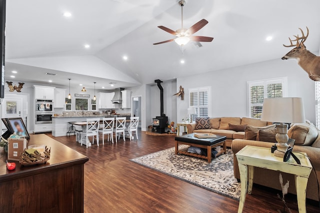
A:
<svg viewBox="0 0 320 213">
<path fill-rule="evenodd" d="M 24 149 L 26 149 L 25 138 L 8 138 L 8 160 L 19 161 Z"/>
</svg>

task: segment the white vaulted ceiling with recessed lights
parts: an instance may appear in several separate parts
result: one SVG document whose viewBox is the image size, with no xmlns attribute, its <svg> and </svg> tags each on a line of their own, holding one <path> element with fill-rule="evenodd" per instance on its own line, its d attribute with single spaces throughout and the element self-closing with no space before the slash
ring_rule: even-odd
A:
<svg viewBox="0 0 320 213">
<path fill-rule="evenodd" d="M 55 84 L 67 84 L 69 76 L 76 79 L 72 84 L 86 81 L 88 88 L 91 81 L 102 85 L 116 80 L 116 87 L 148 84 L 280 60 L 289 51 L 282 43 L 305 26 L 310 31 L 305 45 L 317 52 L 319 8 L 319 0 L 187 0 L 184 27 L 205 18 L 209 23 L 195 35 L 214 39 L 199 48 L 190 42 L 182 54 L 175 42 L 152 45 L 174 37 L 156 26 L 180 28 L 176 0 L 7 0 L 6 79 L 14 69 L 16 80 L 47 83 L 43 73 L 49 70 L 58 73 Z M 64 11 L 72 16 L 62 16 Z M 267 36 L 273 39 L 266 41 Z M 79 64 L 90 58 L 92 70 L 80 70 L 76 58 Z"/>
</svg>

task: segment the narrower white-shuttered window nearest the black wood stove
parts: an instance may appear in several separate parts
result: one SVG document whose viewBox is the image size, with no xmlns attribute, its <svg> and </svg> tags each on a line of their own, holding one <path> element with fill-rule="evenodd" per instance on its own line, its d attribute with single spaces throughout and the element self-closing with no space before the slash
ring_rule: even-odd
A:
<svg viewBox="0 0 320 213">
<path fill-rule="evenodd" d="M 209 117 L 209 91 L 210 87 L 189 89 L 189 107 L 194 107 L 196 117 Z"/>
</svg>

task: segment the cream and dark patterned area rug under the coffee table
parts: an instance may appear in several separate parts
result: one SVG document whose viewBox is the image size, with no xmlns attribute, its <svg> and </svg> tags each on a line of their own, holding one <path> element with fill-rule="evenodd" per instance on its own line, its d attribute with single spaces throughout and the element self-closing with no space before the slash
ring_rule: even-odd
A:
<svg viewBox="0 0 320 213">
<path fill-rule="evenodd" d="M 179 149 L 184 146 L 179 146 Z M 200 158 L 175 155 L 174 147 L 130 161 L 239 201 L 240 184 L 233 176 L 233 153 L 230 149 L 226 154 L 212 159 L 211 163 Z"/>
</svg>

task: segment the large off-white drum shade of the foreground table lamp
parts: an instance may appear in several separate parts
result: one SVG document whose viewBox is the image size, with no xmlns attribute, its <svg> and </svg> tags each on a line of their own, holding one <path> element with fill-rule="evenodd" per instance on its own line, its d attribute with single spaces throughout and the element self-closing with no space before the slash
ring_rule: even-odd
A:
<svg viewBox="0 0 320 213">
<path fill-rule="evenodd" d="M 305 123 L 302 98 L 265 98 L 261 121 Z"/>
</svg>

